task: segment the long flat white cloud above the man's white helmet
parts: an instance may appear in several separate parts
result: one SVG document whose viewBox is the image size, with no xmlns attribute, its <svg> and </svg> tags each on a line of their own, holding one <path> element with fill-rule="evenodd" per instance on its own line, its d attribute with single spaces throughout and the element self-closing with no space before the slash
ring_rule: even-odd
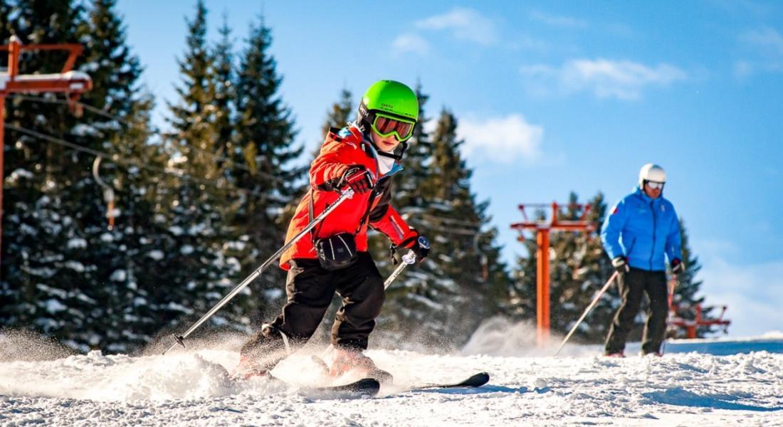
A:
<svg viewBox="0 0 783 427">
<path fill-rule="evenodd" d="M 543 64 L 520 68 L 529 91 L 548 95 L 553 88 L 568 94 L 592 92 L 599 98 L 638 100 L 649 86 L 668 86 L 687 73 L 667 63 L 649 67 L 628 60 L 569 60 L 562 67 Z"/>
</svg>

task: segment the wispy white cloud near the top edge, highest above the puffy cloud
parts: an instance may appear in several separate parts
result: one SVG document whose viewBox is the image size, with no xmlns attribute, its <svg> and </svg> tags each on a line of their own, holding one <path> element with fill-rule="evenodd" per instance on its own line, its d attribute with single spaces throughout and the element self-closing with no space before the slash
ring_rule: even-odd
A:
<svg viewBox="0 0 783 427">
<path fill-rule="evenodd" d="M 499 39 L 492 20 L 474 9 L 463 7 L 455 7 L 447 13 L 419 20 L 415 25 L 424 30 L 451 31 L 454 38 L 481 45 L 492 45 Z"/>
</svg>

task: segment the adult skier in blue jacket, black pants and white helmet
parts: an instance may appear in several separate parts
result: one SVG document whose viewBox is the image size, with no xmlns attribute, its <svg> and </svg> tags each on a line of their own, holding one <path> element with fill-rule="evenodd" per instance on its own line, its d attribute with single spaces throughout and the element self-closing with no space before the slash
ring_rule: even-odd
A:
<svg viewBox="0 0 783 427">
<path fill-rule="evenodd" d="M 636 189 L 615 204 L 601 226 L 601 242 L 619 273 L 617 283 L 622 297 L 606 337 L 606 356 L 624 356 L 626 338 L 645 292 L 650 307 L 641 353 L 661 356 L 669 308 L 664 255 L 672 273 L 683 271 L 680 223 L 673 204 L 662 197 L 664 184 L 663 168 L 651 163 L 644 165 Z"/>
</svg>

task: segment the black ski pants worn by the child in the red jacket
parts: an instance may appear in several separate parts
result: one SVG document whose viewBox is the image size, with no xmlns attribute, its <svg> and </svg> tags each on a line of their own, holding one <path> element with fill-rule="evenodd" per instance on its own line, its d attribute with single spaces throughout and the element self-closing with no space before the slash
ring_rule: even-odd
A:
<svg viewBox="0 0 783 427">
<path fill-rule="evenodd" d="M 343 300 L 332 325 L 332 344 L 366 349 L 375 317 L 381 313 L 386 298 L 384 280 L 372 256 L 359 252 L 351 266 L 337 271 L 324 270 L 317 259 L 294 259 L 290 265 L 286 280 L 288 302 L 280 316 L 265 324 L 242 347 L 242 355 L 280 360 L 286 354 L 283 335 L 291 351 L 303 346 L 323 320 L 335 291 Z"/>
</svg>

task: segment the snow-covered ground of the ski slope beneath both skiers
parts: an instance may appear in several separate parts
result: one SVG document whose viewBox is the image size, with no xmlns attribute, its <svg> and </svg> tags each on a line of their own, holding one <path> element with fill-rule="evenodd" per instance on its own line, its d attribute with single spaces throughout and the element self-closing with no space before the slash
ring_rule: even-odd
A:
<svg viewBox="0 0 783 427">
<path fill-rule="evenodd" d="M 576 345 L 556 358 L 554 345 L 529 345 L 529 328 L 489 329 L 460 354 L 369 351 L 395 386 L 353 400 L 227 381 L 224 367 L 238 354 L 225 348 L 236 340 L 166 356 L 62 356 L 52 344 L 0 335 L 0 425 L 783 425 L 779 333 L 669 342 L 661 358 L 609 359 L 598 346 Z M 307 382 L 314 370 L 297 354 L 275 374 Z M 406 391 L 475 371 L 488 371 L 489 385 Z"/>
</svg>

